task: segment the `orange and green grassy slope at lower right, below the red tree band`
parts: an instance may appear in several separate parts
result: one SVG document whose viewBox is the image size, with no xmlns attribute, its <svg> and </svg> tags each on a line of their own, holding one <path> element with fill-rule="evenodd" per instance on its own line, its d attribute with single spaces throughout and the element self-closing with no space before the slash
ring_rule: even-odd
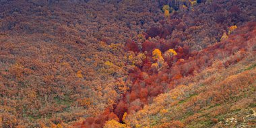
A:
<svg viewBox="0 0 256 128">
<path fill-rule="evenodd" d="M 152 104 L 129 115 L 125 123 L 131 127 L 255 127 L 256 59 L 251 44 L 255 46 L 256 29 L 250 27 L 254 30 L 245 30 L 251 35 L 247 41 L 237 40 L 240 34 L 201 51 L 211 56 L 216 46 L 223 46 L 214 53 L 210 67 L 181 78 L 177 88 L 154 98 Z M 243 48 L 233 55 L 218 56 L 234 48 L 232 45 Z M 233 64 L 226 66 L 231 60 Z M 198 60 L 191 61 L 187 63 Z"/>
</svg>

